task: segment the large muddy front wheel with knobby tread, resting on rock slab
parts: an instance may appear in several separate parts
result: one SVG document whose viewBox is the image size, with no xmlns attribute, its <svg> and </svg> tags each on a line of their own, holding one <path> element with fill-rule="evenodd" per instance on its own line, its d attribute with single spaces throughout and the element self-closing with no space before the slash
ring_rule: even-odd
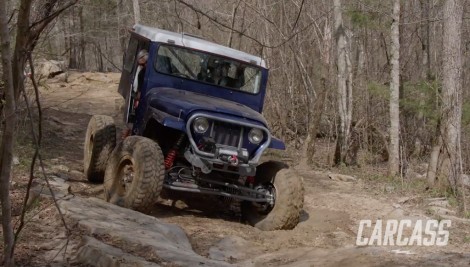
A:
<svg viewBox="0 0 470 267">
<path fill-rule="evenodd" d="M 127 137 L 109 158 L 104 177 L 105 200 L 146 212 L 157 201 L 164 176 L 160 146 L 146 137 Z"/>
</svg>

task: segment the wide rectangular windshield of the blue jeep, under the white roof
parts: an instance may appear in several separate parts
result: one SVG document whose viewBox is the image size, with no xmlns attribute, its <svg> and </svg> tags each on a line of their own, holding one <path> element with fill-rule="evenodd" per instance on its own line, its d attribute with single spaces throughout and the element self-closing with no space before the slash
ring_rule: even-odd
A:
<svg viewBox="0 0 470 267">
<path fill-rule="evenodd" d="M 261 69 L 243 62 L 186 48 L 161 45 L 158 72 L 257 94 Z"/>
</svg>

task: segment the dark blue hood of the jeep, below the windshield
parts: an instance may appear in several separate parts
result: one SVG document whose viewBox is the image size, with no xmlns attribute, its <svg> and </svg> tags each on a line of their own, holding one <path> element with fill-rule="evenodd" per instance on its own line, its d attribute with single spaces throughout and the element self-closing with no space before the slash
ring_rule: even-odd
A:
<svg viewBox="0 0 470 267">
<path fill-rule="evenodd" d="M 148 104 L 175 117 L 187 117 L 194 111 L 224 113 L 250 119 L 267 126 L 266 119 L 251 108 L 222 98 L 174 88 L 154 88 L 147 94 Z"/>
</svg>

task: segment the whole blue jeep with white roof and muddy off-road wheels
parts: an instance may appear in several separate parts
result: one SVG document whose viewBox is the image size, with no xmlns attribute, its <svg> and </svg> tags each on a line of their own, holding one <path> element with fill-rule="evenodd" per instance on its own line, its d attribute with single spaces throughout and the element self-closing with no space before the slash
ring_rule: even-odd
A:
<svg viewBox="0 0 470 267">
<path fill-rule="evenodd" d="M 267 148 L 285 149 L 261 115 L 264 60 L 184 33 L 136 25 L 130 34 L 119 93 L 132 135 L 116 142 L 111 117 L 91 118 L 88 180 L 104 182 L 107 201 L 140 211 L 162 190 L 180 191 L 237 203 L 244 220 L 263 230 L 295 227 L 301 178 L 286 164 L 259 164 Z M 136 107 L 139 51 L 148 51 L 148 60 Z"/>
</svg>

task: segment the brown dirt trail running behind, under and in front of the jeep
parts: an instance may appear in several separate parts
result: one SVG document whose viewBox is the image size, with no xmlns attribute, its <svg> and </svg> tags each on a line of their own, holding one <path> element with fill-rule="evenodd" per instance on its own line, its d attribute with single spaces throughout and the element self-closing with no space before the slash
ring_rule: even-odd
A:
<svg viewBox="0 0 470 267">
<path fill-rule="evenodd" d="M 75 194 L 100 197 L 101 186 L 82 174 L 83 139 L 90 115 L 111 115 L 121 123 L 119 74 L 71 73 L 68 83 L 50 83 L 41 98 L 45 116 L 44 152 L 48 163 Z M 122 127 L 122 125 L 121 125 Z M 426 219 L 426 210 L 399 203 L 398 196 L 373 194 L 361 177 L 336 181 L 327 173 L 296 168 L 305 182 L 305 206 L 291 231 L 263 232 L 239 222 L 220 208 L 186 208 L 181 201 L 162 201 L 151 215 L 181 226 L 193 249 L 212 259 L 239 265 L 286 266 L 443 266 L 470 263 L 467 223 L 453 221 L 445 247 L 356 247 L 361 219 Z M 191 200 L 194 204 L 200 200 Z M 468 235 L 470 236 L 470 235 Z M 392 252 L 399 249 L 411 255 Z"/>
</svg>

